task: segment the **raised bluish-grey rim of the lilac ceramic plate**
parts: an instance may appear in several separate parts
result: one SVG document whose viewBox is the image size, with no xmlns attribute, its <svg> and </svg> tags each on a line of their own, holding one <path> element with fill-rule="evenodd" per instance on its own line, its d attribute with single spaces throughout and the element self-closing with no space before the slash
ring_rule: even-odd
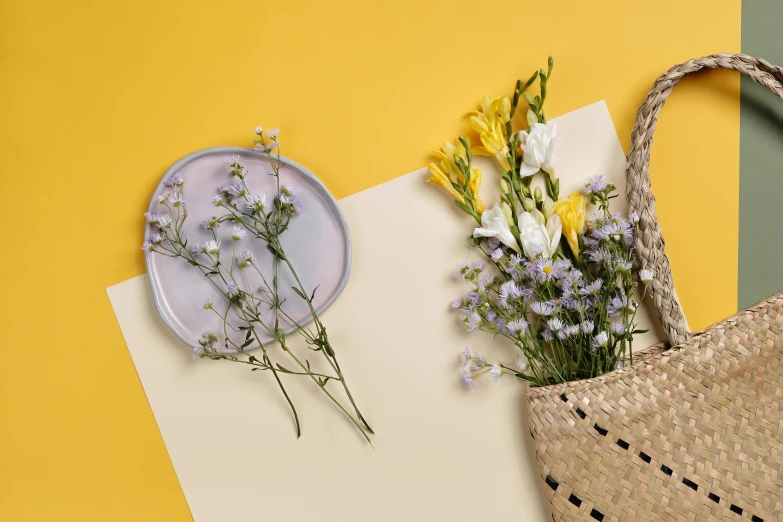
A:
<svg viewBox="0 0 783 522">
<path fill-rule="evenodd" d="M 155 190 L 152 192 L 152 196 L 150 197 L 150 205 L 149 205 L 149 211 L 155 212 L 155 209 L 157 208 L 157 199 L 156 195 L 160 193 L 161 190 L 163 190 L 163 187 L 166 184 L 166 180 L 171 177 L 173 174 L 181 170 L 183 167 L 185 167 L 188 163 L 190 163 L 193 160 L 196 160 L 198 158 L 201 158 L 202 156 L 208 156 L 211 154 L 251 154 L 253 156 L 258 156 L 262 158 L 268 157 L 268 155 L 265 152 L 260 152 L 255 149 L 246 149 L 243 147 L 210 147 L 208 149 L 202 149 L 198 150 L 196 152 L 191 152 L 187 156 L 184 156 L 183 158 L 177 160 L 172 166 L 170 166 L 168 169 L 166 169 L 166 172 L 163 174 L 163 177 L 160 180 L 160 183 L 158 183 L 158 186 L 155 188 Z M 348 284 L 348 279 L 351 276 L 351 252 L 352 252 L 352 243 L 351 243 L 351 230 L 348 228 L 348 221 L 345 219 L 345 215 L 343 214 L 343 209 L 340 208 L 340 205 L 337 203 L 337 200 L 334 198 L 331 192 L 329 192 L 329 189 L 326 188 L 326 185 L 323 184 L 323 182 L 318 179 L 318 177 L 307 170 L 305 167 L 300 165 L 299 163 L 295 162 L 292 159 L 286 158 L 285 156 L 280 156 L 280 161 L 284 164 L 292 167 L 293 169 L 296 169 L 301 174 L 304 174 L 306 177 L 309 177 L 312 181 L 315 182 L 316 186 L 321 189 L 324 196 L 326 197 L 327 201 L 329 201 L 334 208 L 334 212 L 337 215 L 340 226 L 343 229 L 343 233 L 345 234 L 345 270 L 343 272 L 343 277 L 340 279 L 340 284 L 337 285 L 337 289 L 332 293 L 332 295 L 327 299 L 321 306 L 316 308 L 316 313 L 319 315 L 323 313 L 327 308 L 329 308 L 332 303 L 334 303 L 335 299 L 337 299 L 340 294 L 345 289 L 345 286 Z M 152 235 L 152 227 L 150 227 L 146 222 L 144 226 L 144 241 L 149 241 L 150 237 Z M 152 281 L 152 277 L 150 277 L 150 257 L 153 255 L 152 252 L 145 252 L 144 254 L 144 264 L 146 266 L 146 273 L 147 273 L 147 280 L 149 281 L 150 288 L 152 289 L 152 299 L 155 301 L 155 308 L 158 311 L 158 315 L 163 319 L 163 322 L 166 323 L 166 326 L 169 327 L 169 329 L 176 334 L 177 337 L 180 338 L 182 342 L 190 346 L 191 348 L 197 348 L 200 345 L 198 343 L 191 343 L 177 328 L 174 327 L 174 325 L 171 323 L 169 318 L 166 316 L 166 313 L 163 311 L 163 306 L 161 305 L 161 297 L 160 297 L 160 291 L 158 288 L 156 288 L 155 284 Z M 299 324 L 300 326 L 305 326 L 307 324 L 310 324 L 313 321 L 312 317 L 308 317 L 305 320 L 301 321 Z M 289 326 L 287 328 L 283 329 L 283 332 L 288 335 L 289 333 L 293 332 L 295 327 Z"/>
</svg>

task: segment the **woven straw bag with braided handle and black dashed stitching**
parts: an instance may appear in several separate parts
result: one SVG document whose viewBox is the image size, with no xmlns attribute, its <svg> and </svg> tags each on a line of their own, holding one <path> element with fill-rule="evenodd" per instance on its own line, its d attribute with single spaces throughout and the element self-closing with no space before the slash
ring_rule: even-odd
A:
<svg viewBox="0 0 783 522">
<path fill-rule="evenodd" d="M 725 67 L 783 97 L 783 69 L 745 55 L 677 65 L 636 115 L 626 176 L 639 262 L 674 348 L 528 393 L 554 519 L 783 520 L 783 293 L 695 334 L 674 293 L 650 192 L 658 112 L 688 73 Z"/>
</svg>

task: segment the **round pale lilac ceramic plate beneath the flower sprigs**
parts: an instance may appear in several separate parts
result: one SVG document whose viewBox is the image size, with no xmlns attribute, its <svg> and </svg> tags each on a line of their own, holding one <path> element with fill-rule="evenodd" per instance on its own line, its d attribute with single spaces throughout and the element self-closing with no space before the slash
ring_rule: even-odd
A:
<svg viewBox="0 0 783 522">
<path fill-rule="evenodd" d="M 218 186 L 236 181 L 231 178 L 231 169 L 224 164 L 224 160 L 233 154 L 239 154 L 242 158 L 241 162 L 248 171 L 246 181 L 251 191 L 266 194 L 267 201 L 271 201 L 276 194 L 276 182 L 274 176 L 269 175 L 272 168 L 265 154 L 239 147 L 216 147 L 194 152 L 172 165 L 152 195 L 150 212 L 166 211 L 165 207 L 158 205 L 158 196 L 166 191 L 164 181 L 174 174 L 179 174 L 185 180 L 183 187 L 188 219 L 183 230 L 188 243 L 212 239 L 212 235 L 203 230 L 200 223 L 204 218 L 223 213 L 211 204 L 211 199 L 217 193 Z M 318 287 L 314 304 L 320 313 L 332 304 L 348 282 L 351 271 L 351 237 L 348 224 L 337 201 L 318 178 L 301 165 L 284 157 L 280 159 L 283 163 L 280 169 L 281 183 L 290 183 L 304 204 L 304 212 L 292 218 L 289 230 L 281 236 L 281 243 L 305 288 L 312 292 Z M 218 239 L 221 240 L 220 257 L 224 262 L 232 256 L 233 241 L 228 237 L 230 228 L 230 224 L 224 224 L 217 229 Z M 147 226 L 145 240 L 148 240 L 153 232 L 151 227 Z M 266 249 L 265 244 L 259 239 L 248 237 L 236 244 L 237 254 L 245 250 L 250 250 L 257 256 L 257 266 L 271 282 L 274 256 Z M 203 310 L 200 305 L 206 298 L 211 298 L 215 308 L 223 312 L 226 309 L 225 298 L 195 267 L 183 259 L 155 253 L 147 253 L 146 262 L 155 306 L 163 321 L 180 339 L 196 347 L 206 330 L 215 332 L 221 339 L 224 337 L 221 318 L 212 311 Z M 311 316 L 307 304 L 291 289 L 294 285 L 291 273 L 283 264 L 278 270 L 280 296 L 285 299 L 283 309 L 297 323 L 309 323 Z M 254 270 L 248 270 L 247 275 L 250 285 L 257 289 L 262 283 L 261 276 Z M 246 289 L 242 271 L 235 268 L 234 276 L 242 281 L 243 290 Z M 270 310 L 265 310 L 264 314 L 262 319 L 272 319 Z M 228 318 L 234 325 L 243 324 L 239 322 L 235 312 L 229 313 Z M 274 324 L 274 321 L 268 324 Z M 292 330 L 293 328 L 288 327 L 286 332 Z M 244 332 L 232 334 L 229 330 L 228 334 L 232 340 L 242 344 Z M 259 336 L 263 343 L 272 340 L 269 336 L 263 337 L 261 332 Z M 219 343 L 221 347 L 223 344 L 222 341 Z M 248 349 L 257 347 L 258 344 L 254 344 Z"/>
</svg>

